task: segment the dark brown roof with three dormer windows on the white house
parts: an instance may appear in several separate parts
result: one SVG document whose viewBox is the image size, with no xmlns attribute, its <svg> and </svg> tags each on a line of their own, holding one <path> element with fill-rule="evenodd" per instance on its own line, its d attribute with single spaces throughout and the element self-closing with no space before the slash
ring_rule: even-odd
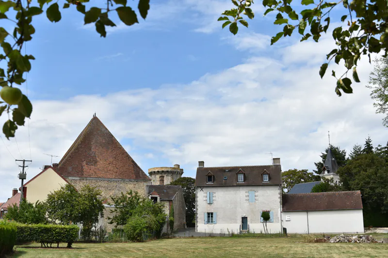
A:
<svg viewBox="0 0 388 258">
<path fill-rule="evenodd" d="M 245 174 L 243 183 L 237 182 L 237 173 Z M 226 170 L 228 170 L 226 172 Z M 269 182 L 263 182 L 262 174 L 269 173 Z M 207 183 L 207 174 L 214 175 L 213 183 Z M 224 180 L 224 177 L 227 177 Z M 280 185 L 282 183 L 280 165 L 238 166 L 238 167 L 198 167 L 195 186 L 240 186 L 240 185 Z"/>
</svg>

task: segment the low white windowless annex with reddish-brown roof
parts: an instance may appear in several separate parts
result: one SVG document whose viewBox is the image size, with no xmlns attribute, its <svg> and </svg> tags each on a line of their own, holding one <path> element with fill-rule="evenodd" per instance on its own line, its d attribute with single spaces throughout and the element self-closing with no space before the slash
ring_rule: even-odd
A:
<svg viewBox="0 0 388 258">
<path fill-rule="evenodd" d="M 360 191 L 285 195 L 282 218 L 287 233 L 364 233 Z"/>
</svg>

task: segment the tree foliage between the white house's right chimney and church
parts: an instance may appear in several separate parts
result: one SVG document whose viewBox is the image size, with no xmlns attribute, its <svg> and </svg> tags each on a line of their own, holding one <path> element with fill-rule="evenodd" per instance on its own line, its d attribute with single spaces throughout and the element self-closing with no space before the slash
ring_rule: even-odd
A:
<svg viewBox="0 0 388 258">
<path fill-rule="evenodd" d="M 283 191 L 287 190 L 287 192 L 297 183 L 315 182 L 320 180 L 319 175 L 307 172 L 307 169 L 298 170 L 294 168 L 282 172 Z"/>
</svg>

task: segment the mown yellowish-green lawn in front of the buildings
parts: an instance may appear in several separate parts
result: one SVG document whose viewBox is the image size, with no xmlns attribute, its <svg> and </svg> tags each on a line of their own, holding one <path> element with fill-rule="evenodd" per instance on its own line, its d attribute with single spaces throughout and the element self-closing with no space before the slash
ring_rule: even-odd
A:
<svg viewBox="0 0 388 258">
<path fill-rule="evenodd" d="M 305 239 L 173 238 L 146 243 L 74 243 L 72 249 L 38 248 L 40 244 L 34 243 L 17 247 L 9 258 L 388 258 L 388 244 L 308 243 Z"/>
</svg>

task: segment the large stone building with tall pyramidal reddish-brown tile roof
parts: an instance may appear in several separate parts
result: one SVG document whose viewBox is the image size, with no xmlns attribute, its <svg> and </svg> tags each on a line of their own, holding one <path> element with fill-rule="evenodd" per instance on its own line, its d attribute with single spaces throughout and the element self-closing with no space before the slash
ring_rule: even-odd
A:
<svg viewBox="0 0 388 258">
<path fill-rule="evenodd" d="M 129 190 L 146 197 L 146 185 L 151 183 L 97 116 L 93 116 L 61 161 L 52 167 L 78 190 L 86 184 L 96 186 L 102 191 L 104 202 Z M 105 224 L 110 209 L 106 205 Z"/>
</svg>

